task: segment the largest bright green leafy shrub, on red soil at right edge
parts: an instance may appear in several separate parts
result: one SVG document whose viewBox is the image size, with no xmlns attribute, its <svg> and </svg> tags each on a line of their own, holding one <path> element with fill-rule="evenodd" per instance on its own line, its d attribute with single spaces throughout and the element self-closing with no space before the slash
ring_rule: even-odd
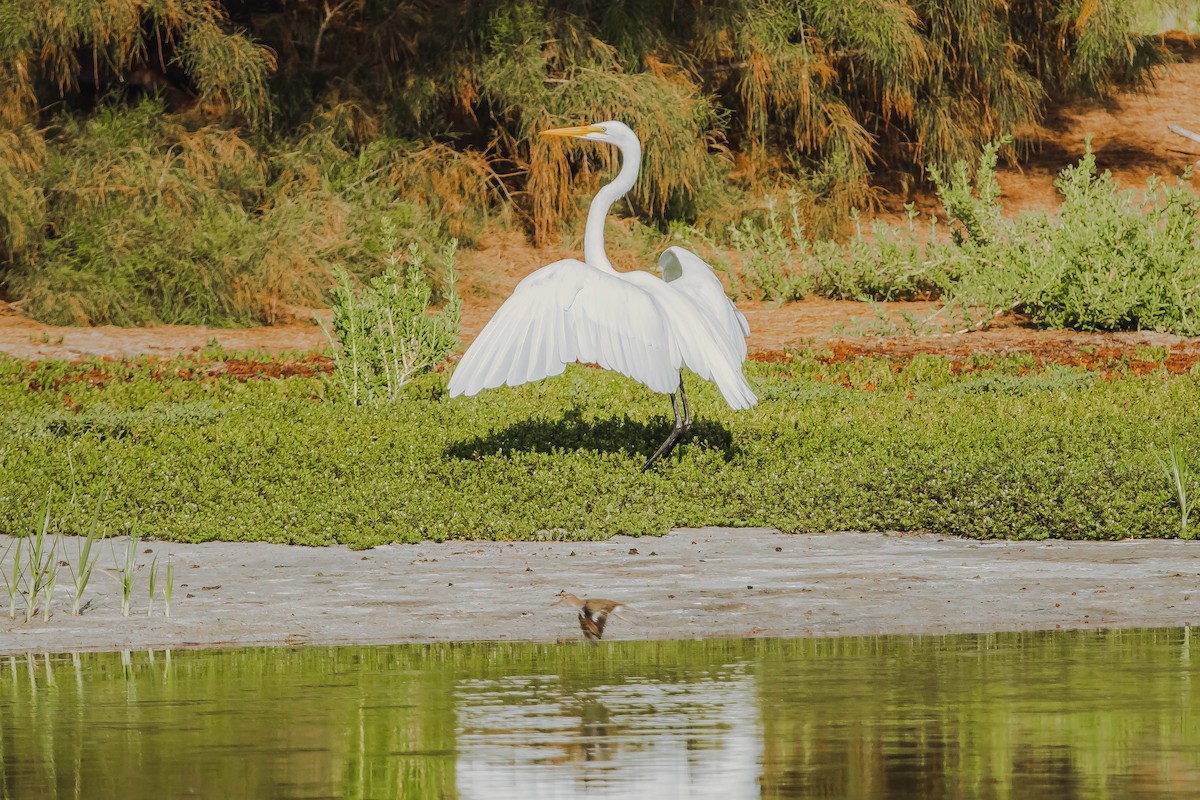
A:
<svg viewBox="0 0 1200 800">
<path fill-rule="evenodd" d="M 998 212 L 994 162 L 980 163 L 978 201 L 947 205 L 958 306 L 1013 308 L 1045 327 L 1200 333 L 1200 196 L 1187 175 L 1140 194 L 1098 173 L 1088 148 L 1056 181 L 1056 215 Z M 961 192 L 956 192 L 961 196 Z"/>
</svg>

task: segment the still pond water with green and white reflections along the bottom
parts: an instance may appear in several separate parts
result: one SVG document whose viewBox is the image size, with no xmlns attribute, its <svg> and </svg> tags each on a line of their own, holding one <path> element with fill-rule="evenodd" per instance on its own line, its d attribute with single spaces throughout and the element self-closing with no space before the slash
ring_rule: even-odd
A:
<svg viewBox="0 0 1200 800">
<path fill-rule="evenodd" d="M 0 760 L 13 800 L 1200 798 L 1200 646 L 1162 628 L 4 656 Z"/>
</svg>

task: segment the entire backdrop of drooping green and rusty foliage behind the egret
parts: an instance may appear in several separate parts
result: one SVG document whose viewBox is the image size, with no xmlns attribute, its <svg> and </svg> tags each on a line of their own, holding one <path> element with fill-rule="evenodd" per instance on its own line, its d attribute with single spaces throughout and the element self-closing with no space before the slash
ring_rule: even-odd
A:
<svg viewBox="0 0 1200 800">
<path fill-rule="evenodd" d="M 1019 155 L 1048 100 L 1144 84 L 1170 54 L 1135 6 L 13 0 L 0 284 L 55 323 L 272 321 L 378 273 L 384 223 L 428 252 L 496 218 L 557 239 L 612 152 L 535 132 L 606 118 L 647 142 L 625 207 L 659 228 L 726 243 L 790 194 L 826 235 Z"/>
</svg>

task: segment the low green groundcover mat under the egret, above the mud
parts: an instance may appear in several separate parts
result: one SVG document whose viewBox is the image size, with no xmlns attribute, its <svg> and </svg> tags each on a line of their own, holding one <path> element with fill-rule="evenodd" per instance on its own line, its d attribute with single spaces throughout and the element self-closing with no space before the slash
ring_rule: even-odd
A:
<svg viewBox="0 0 1200 800">
<path fill-rule="evenodd" d="M 748 413 L 692 379 L 690 439 L 643 475 L 668 409 L 620 375 L 572 367 L 448 402 L 428 373 L 402 404 L 352 405 L 329 375 L 244 380 L 246 363 L 210 356 L 0 361 L 0 530 L 30 530 L 53 491 L 55 530 L 85 531 L 100 503 L 106 533 L 187 541 L 1193 533 L 1164 455 L 1194 459 L 1200 384 L 1162 367 L 798 353 L 749 365 L 761 402 Z"/>
</svg>

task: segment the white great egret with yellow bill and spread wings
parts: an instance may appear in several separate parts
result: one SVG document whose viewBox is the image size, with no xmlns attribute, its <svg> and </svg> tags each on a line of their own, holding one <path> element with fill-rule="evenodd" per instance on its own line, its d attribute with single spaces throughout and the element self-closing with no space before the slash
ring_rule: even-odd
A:
<svg viewBox="0 0 1200 800">
<path fill-rule="evenodd" d="M 450 396 L 541 380 L 575 361 L 613 369 L 671 396 L 674 428 L 642 467 L 644 473 L 691 426 L 682 367 L 716 384 L 733 409 L 758 402 L 742 374 L 750 326 L 695 253 L 668 247 L 659 258 L 662 279 L 640 270 L 618 272 L 608 261 L 605 217 L 634 187 L 642 161 L 642 144 L 629 126 L 608 121 L 541 133 L 616 145 L 620 172 L 592 200 L 583 260 L 554 261 L 517 284 L 462 356 Z"/>
</svg>

